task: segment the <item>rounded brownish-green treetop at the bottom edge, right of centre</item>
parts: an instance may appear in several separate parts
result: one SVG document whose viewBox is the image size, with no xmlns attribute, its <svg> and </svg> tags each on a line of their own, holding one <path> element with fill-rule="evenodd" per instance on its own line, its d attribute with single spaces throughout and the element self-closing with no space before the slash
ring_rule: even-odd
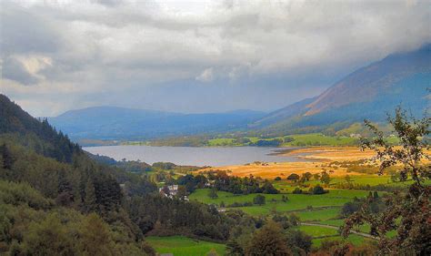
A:
<svg viewBox="0 0 431 256">
<path fill-rule="evenodd" d="M 266 225 L 256 231 L 249 246 L 246 248 L 246 255 L 292 255 L 287 248 L 286 237 L 283 230 L 275 221 L 269 220 Z"/>
</svg>

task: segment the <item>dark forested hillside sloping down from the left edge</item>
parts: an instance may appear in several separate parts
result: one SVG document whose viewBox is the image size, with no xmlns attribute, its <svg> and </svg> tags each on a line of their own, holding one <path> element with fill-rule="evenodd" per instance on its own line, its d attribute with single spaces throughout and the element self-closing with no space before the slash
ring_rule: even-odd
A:
<svg viewBox="0 0 431 256">
<path fill-rule="evenodd" d="M 145 233 L 226 241 L 247 218 L 161 197 L 145 176 L 96 163 L 46 120 L 0 99 L 2 253 L 152 255 Z"/>
</svg>

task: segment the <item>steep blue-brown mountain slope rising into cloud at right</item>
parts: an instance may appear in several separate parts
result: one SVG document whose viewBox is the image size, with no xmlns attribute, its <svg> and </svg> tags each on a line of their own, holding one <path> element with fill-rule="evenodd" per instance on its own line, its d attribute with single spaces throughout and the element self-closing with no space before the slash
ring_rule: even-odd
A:
<svg viewBox="0 0 431 256">
<path fill-rule="evenodd" d="M 384 121 L 398 105 L 421 116 L 430 106 L 427 88 L 431 88 L 431 45 L 360 68 L 321 95 L 269 113 L 250 127 L 269 133 L 346 128 L 365 118 Z"/>
</svg>

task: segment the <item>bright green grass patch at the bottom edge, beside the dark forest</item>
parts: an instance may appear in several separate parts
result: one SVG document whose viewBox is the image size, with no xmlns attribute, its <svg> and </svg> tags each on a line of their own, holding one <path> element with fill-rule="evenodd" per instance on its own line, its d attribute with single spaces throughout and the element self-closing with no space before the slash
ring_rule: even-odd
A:
<svg viewBox="0 0 431 256">
<path fill-rule="evenodd" d="M 145 239 L 158 253 L 172 253 L 175 256 L 201 256 L 215 250 L 218 255 L 225 255 L 226 245 L 197 241 L 184 236 L 147 237 Z"/>
</svg>

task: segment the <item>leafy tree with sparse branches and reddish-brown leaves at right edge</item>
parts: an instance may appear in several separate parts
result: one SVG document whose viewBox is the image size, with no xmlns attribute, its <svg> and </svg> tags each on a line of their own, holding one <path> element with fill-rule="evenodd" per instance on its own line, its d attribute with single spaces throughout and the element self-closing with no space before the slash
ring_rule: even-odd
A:
<svg viewBox="0 0 431 256">
<path fill-rule="evenodd" d="M 430 133 L 430 120 L 427 117 L 420 120 L 407 117 L 406 111 L 396 108 L 395 117 L 388 117 L 388 122 L 400 141 L 399 147 L 387 143 L 384 133 L 371 122 L 365 121 L 375 138 L 363 138 L 361 145 L 363 149 L 369 148 L 376 152 L 373 159 L 378 160 L 379 174 L 382 175 L 389 167 L 396 167 L 401 180 L 411 177 L 414 183 L 406 191 L 396 191 L 386 196 L 386 209 L 377 214 L 373 213 L 371 207 L 374 197 L 368 197 L 361 210 L 345 221 L 345 237 L 354 226 L 367 222 L 371 226 L 370 233 L 379 237 L 381 254 L 431 254 L 431 186 L 423 183 L 425 179 L 431 179 L 431 168 L 423 161 L 430 159 L 425 151 L 429 145 L 424 139 Z M 395 237 L 387 237 L 386 233 L 390 230 L 396 230 Z"/>
</svg>

